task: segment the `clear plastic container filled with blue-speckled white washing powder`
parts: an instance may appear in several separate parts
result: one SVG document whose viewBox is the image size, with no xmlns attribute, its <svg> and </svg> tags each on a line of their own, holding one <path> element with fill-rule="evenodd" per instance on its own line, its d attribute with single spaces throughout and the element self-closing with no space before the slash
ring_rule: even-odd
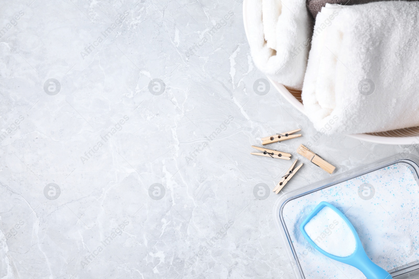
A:
<svg viewBox="0 0 419 279">
<path fill-rule="evenodd" d="M 299 225 L 321 201 L 344 212 L 367 255 L 393 278 L 419 278 L 418 174 L 417 156 L 397 154 L 279 197 L 274 220 L 295 278 L 365 278 L 303 238 Z"/>
</svg>

